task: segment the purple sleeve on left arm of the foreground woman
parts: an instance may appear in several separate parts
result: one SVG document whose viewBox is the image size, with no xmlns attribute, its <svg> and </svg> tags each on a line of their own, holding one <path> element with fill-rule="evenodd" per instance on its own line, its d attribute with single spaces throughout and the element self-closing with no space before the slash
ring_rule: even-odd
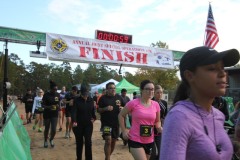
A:
<svg viewBox="0 0 240 160">
<path fill-rule="evenodd" d="M 184 160 L 190 137 L 187 116 L 180 111 L 168 113 L 162 133 L 160 157 L 164 160 Z"/>
</svg>

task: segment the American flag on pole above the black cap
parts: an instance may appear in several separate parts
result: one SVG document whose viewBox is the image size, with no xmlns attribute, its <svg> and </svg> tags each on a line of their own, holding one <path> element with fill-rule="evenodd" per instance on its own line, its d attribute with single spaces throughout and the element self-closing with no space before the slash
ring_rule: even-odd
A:
<svg viewBox="0 0 240 160">
<path fill-rule="evenodd" d="M 208 18 L 207 18 L 207 25 L 206 25 L 206 37 L 205 37 L 205 46 L 214 48 L 217 43 L 219 42 L 219 37 L 217 34 L 217 28 L 215 26 L 212 7 L 209 4 L 208 10 Z"/>
</svg>

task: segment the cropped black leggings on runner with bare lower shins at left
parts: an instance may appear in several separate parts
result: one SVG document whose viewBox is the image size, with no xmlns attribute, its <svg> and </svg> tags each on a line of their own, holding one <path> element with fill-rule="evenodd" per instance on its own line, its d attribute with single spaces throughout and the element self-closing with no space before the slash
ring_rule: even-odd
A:
<svg viewBox="0 0 240 160">
<path fill-rule="evenodd" d="M 48 139 L 48 133 L 49 133 L 50 125 L 51 125 L 50 140 L 54 139 L 55 134 L 56 134 L 56 130 L 57 130 L 57 122 L 58 122 L 58 118 L 57 117 L 44 119 L 44 125 L 45 125 L 44 140 L 45 141 L 47 141 L 47 139 Z"/>
</svg>

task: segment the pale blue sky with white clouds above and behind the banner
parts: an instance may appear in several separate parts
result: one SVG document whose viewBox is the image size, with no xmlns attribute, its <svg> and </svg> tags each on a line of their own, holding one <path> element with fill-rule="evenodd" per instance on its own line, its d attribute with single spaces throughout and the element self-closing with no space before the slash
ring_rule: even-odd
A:
<svg viewBox="0 0 240 160">
<path fill-rule="evenodd" d="M 211 2 L 220 39 L 215 49 L 240 50 L 240 1 Z M 203 45 L 208 5 L 207 0 L 6 0 L 1 2 L 0 26 L 84 38 L 94 38 L 99 29 L 133 35 L 135 45 L 150 46 L 160 40 L 171 50 L 187 51 Z M 8 49 L 25 64 L 53 62 L 31 58 L 29 51 L 35 46 L 9 43 Z"/>
</svg>

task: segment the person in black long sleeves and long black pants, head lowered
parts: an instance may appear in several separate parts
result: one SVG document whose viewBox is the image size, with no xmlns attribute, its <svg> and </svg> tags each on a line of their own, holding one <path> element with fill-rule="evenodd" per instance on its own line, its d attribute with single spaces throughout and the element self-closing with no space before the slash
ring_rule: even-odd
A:
<svg viewBox="0 0 240 160">
<path fill-rule="evenodd" d="M 77 160 L 82 159 L 83 138 L 85 140 L 85 160 L 92 160 L 92 133 L 95 120 L 94 101 L 89 96 L 89 90 L 85 86 L 81 86 L 81 95 L 74 99 L 72 107 Z"/>
</svg>

